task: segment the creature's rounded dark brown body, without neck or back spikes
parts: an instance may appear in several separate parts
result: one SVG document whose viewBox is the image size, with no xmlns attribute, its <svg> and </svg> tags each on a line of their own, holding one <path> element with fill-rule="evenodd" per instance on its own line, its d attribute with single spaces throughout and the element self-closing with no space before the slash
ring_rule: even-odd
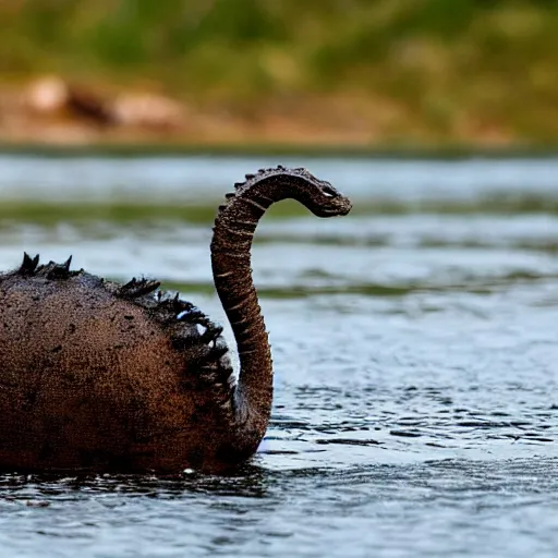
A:
<svg viewBox="0 0 558 558">
<path fill-rule="evenodd" d="M 220 444 L 210 387 L 142 305 L 148 296 L 132 303 L 87 274 L 2 280 L 3 469 L 177 472 L 244 457 Z M 199 344 L 195 326 L 181 328 Z"/>
</svg>

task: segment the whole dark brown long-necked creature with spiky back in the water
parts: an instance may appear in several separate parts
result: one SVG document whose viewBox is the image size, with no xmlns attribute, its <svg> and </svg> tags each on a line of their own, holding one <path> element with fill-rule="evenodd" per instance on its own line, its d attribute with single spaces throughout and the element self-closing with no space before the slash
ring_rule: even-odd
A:
<svg viewBox="0 0 558 558">
<path fill-rule="evenodd" d="M 348 198 L 304 169 L 260 170 L 220 206 L 214 280 L 238 343 L 156 281 L 105 281 L 25 254 L 0 275 L 0 468 L 220 471 L 254 453 L 268 425 L 271 355 L 252 281 L 252 238 L 274 203 L 318 217 Z"/>
</svg>

